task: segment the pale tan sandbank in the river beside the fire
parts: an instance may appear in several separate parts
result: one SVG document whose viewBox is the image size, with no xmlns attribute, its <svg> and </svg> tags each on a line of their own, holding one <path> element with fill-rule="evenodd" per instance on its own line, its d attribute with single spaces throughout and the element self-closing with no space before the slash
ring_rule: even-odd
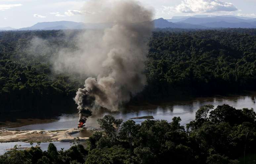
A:
<svg viewBox="0 0 256 164">
<path fill-rule="evenodd" d="M 8 131 L 0 130 L 0 142 L 70 142 L 75 137 L 72 134 L 79 133 L 81 129 L 72 128 L 60 131 L 30 130 L 30 131 Z M 88 137 L 79 137 L 80 141 L 89 139 Z"/>
</svg>

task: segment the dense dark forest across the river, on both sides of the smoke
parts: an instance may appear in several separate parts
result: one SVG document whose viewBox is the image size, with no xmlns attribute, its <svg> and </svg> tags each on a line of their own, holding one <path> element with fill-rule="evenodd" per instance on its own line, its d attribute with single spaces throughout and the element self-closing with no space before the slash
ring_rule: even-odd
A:
<svg viewBox="0 0 256 164">
<path fill-rule="evenodd" d="M 75 50 L 80 32 L 0 32 L 0 113 L 75 110 L 87 77 L 56 72 L 51 59 Z M 256 29 L 157 29 L 148 44 L 148 85 L 132 102 L 256 89 Z"/>
</svg>

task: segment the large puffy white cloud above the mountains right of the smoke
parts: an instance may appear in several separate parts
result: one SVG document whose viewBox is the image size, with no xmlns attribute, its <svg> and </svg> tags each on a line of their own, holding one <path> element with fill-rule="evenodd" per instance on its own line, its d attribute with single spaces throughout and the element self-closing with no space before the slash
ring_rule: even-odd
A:
<svg viewBox="0 0 256 164">
<path fill-rule="evenodd" d="M 184 0 L 175 9 L 179 13 L 213 13 L 238 10 L 234 4 L 219 0 Z"/>
</svg>

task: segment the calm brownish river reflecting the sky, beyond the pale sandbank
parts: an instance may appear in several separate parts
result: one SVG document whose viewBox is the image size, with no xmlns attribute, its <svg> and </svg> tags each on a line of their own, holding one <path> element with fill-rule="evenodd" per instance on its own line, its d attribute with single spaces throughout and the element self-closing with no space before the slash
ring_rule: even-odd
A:
<svg viewBox="0 0 256 164">
<path fill-rule="evenodd" d="M 195 112 L 203 105 L 211 104 L 214 107 L 223 104 L 229 104 L 236 109 L 254 108 L 255 92 L 250 92 L 246 95 L 232 96 L 215 96 L 206 98 L 195 98 L 189 101 L 170 101 L 168 103 L 159 104 L 142 104 L 136 106 L 128 106 L 121 108 L 117 112 L 97 111 L 94 115 L 88 118 L 86 128 L 98 129 L 98 118 L 104 115 L 113 115 L 115 118 L 122 118 L 124 121 L 139 116 L 152 115 L 155 119 L 164 119 L 170 122 L 174 116 L 180 116 L 181 124 L 189 123 L 195 117 Z M 62 130 L 74 128 L 77 125 L 78 114 L 62 114 L 57 118 L 57 121 L 50 123 L 30 124 L 21 127 L 8 128 L 9 130 Z M 137 123 L 141 123 L 145 119 L 134 119 Z"/>
</svg>

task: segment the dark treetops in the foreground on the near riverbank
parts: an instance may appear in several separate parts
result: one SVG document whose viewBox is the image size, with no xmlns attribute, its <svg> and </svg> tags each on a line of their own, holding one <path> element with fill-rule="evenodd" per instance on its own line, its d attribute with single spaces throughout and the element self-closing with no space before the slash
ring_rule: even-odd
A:
<svg viewBox="0 0 256 164">
<path fill-rule="evenodd" d="M 256 114 L 229 105 L 201 107 L 195 120 L 180 125 L 180 117 L 133 120 L 122 123 L 105 115 L 98 119 L 103 131 L 95 132 L 84 148 L 76 139 L 68 150 L 50 144 L 29 150 L 8 151 L 1 164 L 253 164 L 256 162 Z M 117 129 L 120 132 L 117 135 Z"/>
</svg>

